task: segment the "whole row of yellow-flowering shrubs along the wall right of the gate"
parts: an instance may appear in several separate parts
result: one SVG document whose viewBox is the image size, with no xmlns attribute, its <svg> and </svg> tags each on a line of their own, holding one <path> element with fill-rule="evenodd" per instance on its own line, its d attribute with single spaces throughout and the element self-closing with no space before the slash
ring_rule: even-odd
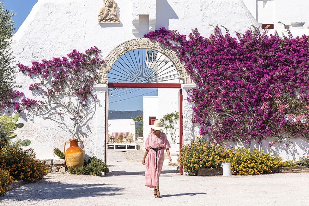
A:
<svg viewBox="0 0 309 206">
<path fill-rule="evenodd" d="M 279 156 L 253 149 L 226 149 L 223 145 L 198 139 L 191 145 L 184 145 L 178 162 L 184 171 L 195 173 L 200 168 L 220 167 L 222 162 L 230 162 L 237 175 L 271 173 L 274 168 L 296 166 L 296 161 L 282 161 Z"/>
</svg>

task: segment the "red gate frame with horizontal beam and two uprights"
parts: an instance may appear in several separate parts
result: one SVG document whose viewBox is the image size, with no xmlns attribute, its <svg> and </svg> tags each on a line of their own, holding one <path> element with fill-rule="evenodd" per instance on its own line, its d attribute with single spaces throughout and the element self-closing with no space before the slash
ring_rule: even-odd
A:
<svg viewBox="0 0 309 206">
<path fill-rule="evenodd" d="M 183 139 L 183 95 L 181 84 L 177 83 L 108 83 L 108 88 L 166 88 L 180 89 L 179 90 L 179 151 L 184 144 Z M 105 93 L 105 162 L 107 163 L 107 136 L 108 136 L 108 91 Z M 179 154 L 181 155 L 181 153 Z M 180 174 L 183 174 L 182 166 L 180 165 Z"/>
</svg>

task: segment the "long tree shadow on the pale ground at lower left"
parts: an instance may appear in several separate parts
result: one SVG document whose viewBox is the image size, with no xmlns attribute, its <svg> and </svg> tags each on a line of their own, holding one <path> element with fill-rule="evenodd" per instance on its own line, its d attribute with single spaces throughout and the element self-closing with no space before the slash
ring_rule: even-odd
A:
<svg viewBox="0 0 309 206">
<path fill-rule="evenodd" d="M 41 184 L 42 183 L 42 184 Z M 99 197 L 121 195 L 124 188 L 110 187 L 108 184 L 66 184 L 61 182 L 26 184 L 23 187 L 10 191 L 2 198 L 6 200 L 56 200 L 83 197 Z M 0 198 L 0 200 L 2 200 Z"/>
</svg>

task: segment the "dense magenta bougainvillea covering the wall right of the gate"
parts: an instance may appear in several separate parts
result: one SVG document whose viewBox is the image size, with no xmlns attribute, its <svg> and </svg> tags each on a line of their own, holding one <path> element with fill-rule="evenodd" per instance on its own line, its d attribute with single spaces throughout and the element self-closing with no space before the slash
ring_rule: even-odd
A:
<svg viewBox="0 0 309 206">
<path fill-rule="evenodd" d="M 200 134 L 217 141 L 309 137 L 309 38 L 253 27 L 232 37 L 217 26 L 209 38 L 161 28 L 145 37 L 176 52 L 197 88 L 189 91 Z M 276 141 L 271 142 L 270 145 Z"/>
</svg>

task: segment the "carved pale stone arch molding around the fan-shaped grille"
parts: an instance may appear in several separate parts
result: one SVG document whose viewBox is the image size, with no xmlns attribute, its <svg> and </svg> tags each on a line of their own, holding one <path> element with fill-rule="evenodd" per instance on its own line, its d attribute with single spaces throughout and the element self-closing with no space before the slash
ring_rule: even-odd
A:
<svg viewBox="0 0 309 206">
<path fill-rule="evenodd" d="M 163 44 L 158 42 L 152 42 L 148 38 L 138 38 L 126 41 L 118 46 L 116 46 L 104 59 L 104 64 L 99 72 L 99 84 L 108 84 L 107 73 L 112 69 L 112 65 L 115 61 L 123 54 L 133 50 L 133 49 L 154 49 L 166 55 L 176 66 L 176 69 L 180 71 L 180 79 L 184 81 L 185 84 L 192 83 L 191 78 L 184 68 L 184 65 L 180 63 L 176 52 Z"/>
</svg>

